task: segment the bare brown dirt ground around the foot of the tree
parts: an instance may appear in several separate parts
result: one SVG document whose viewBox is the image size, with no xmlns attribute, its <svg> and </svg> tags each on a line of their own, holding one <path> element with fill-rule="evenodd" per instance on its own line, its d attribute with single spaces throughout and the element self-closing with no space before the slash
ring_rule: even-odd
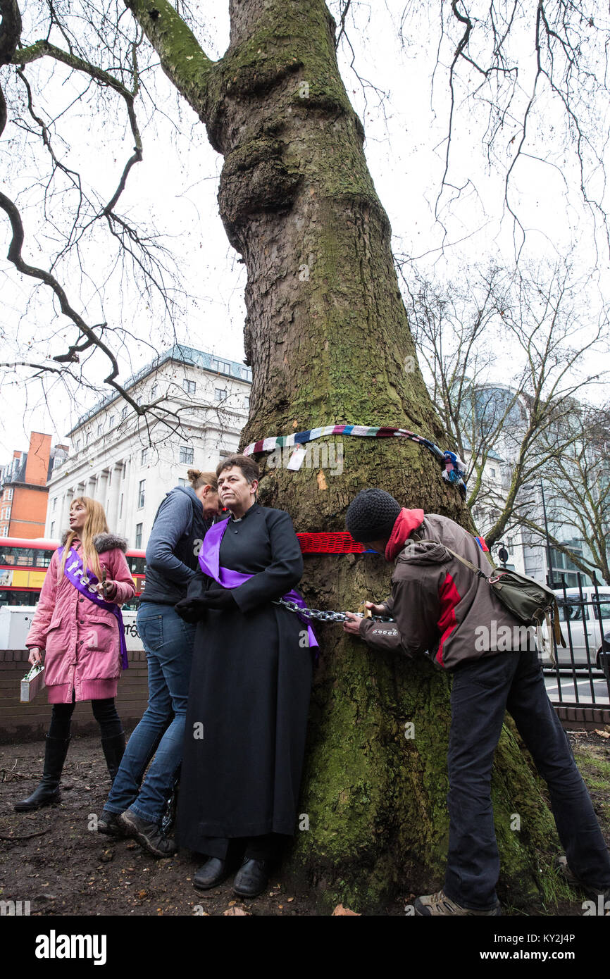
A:
<svg viewBox="0 0 610 979">
<path fill-rule="evenodd" d="M 610 733 L 606 728 L 603 733 Z M 575 756 L 610 845 L 610 738 L 574 732 Z M 316 915 L 316 896 L 295 891 L 281 870 L 254 901 L 235 899 L 231 879 L 199 892 L 192 876 L 202 860 L 180 852 L 155 860 L 135 842 L 115 841 L 90 828 L 110 787 L 99 739 L 74 737 L 60 804 L 15 813 L 13 803 L 35 788 L 42 771 L 40 742 L 0 746 L 0 898 L 29 901 L 32 916 L 54 915 Z M 403 915 L 413 895 L 397 895 L 382 912 Z M 582 900 L 582 899 L 581 899 Z M 328 913 L 328 912 L 325 912 Z M 379 913 L 379 912 L 378 912 Z M 580 901 L 532 914 L 582 914 Z"/>
</svg>

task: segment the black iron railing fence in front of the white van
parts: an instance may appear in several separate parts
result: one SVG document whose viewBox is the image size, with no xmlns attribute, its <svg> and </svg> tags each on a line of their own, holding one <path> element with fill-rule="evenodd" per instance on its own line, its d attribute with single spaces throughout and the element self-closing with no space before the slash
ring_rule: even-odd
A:
<svg viewBox="0 0 610 979">
<path fill-rule="evenodd" d="M 610 705 L 610 586 L 583 583 L 568 587 L 547 582 L 557 593 L 561 631 L 566 647 L 554 642 L 555 660 L 542 660 L 550 699 L 557 704 L 607 707 Z"/>
</svg>

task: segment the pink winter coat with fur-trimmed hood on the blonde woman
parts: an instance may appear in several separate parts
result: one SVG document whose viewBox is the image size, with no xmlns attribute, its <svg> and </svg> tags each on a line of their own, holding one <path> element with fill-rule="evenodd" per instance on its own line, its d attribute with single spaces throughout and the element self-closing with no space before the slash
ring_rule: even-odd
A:
<svg viewBox="0 0 610 979">
<path fill-rule="evenodd" d="M 106 568 L 107 583 L 117 584 L 112 600 L 122 605 L 135 594 L 124 555 L 126 541 L 113 534 L 98 534 L 93 543 L 100 565 Z M 74 540 L 72 547 L 78 553 L 80 541 Z M 60 573 L 60 564 L 56 551 L 25 645 L 46 650 L 44 678 L 50 704 L 70 704 L 72 691 L 75 700 L 115 697 L 120 676 L 117 620 L 112 612 L 81 595 Z"/>
</svg>

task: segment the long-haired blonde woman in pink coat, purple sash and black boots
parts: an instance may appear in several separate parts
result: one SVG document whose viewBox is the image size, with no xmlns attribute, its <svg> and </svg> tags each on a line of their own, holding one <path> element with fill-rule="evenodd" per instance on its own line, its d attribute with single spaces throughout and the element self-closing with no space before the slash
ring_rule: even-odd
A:
<svg viewBox="0 0 610 979">
<path fill-rule="evenodd" d="M 39 663 L 44 653 L 45 683 L 53 713 L 42 781 L 27 799 L 16 803 L 18 812 L 60 801 L 70 719 L 79 700 L 91 701 L 111 778 L 117 773 L 125 748 L 115 707 L 121 670 L 120 627 L 113 612 L 88 595 L 116 606 L 133 598 L 135 585 L 125 550 L 126 542 L 109 533 L 101 503 L 89 496 L 72 500 L 70 531 L 64 547 L 51 559 L 25 640 L 32 665 Z M 80 581 L 83 575 L 88 577 L 88 585 Z"/>
</svg>

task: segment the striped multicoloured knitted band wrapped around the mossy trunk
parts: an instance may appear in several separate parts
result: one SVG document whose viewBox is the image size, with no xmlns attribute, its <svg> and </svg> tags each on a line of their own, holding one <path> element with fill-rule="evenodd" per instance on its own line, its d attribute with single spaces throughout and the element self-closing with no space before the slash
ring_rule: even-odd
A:
<svg viewBox="0 0 610 979">
<path fill-rule="evenodd" d="M 369 425 L 324 425 L 322 428 L 308 429 L 306 432 L 295 432 L 293 435 L 280 435 L 261 439 L 247 445 L 243 450 L 243 455 L 252 455 L 254 452 L 271 452 L 276 448 L 295 445 L 295 451 L 288 463 L 289 469 L 300 469 L 305 458 L 305 449 L 301 446 L 305 443 L 313 442 L 315 439 L 322 439 L 328 435 L 353 435 L 364 438 L 387 439 L 397 437 L 408 439 L 423 445 L 435 456 L 443 469 L 443 479 L 447 483 L 455 483 L 460 493 L 466 498 L 466 473 L 465 465 L 455 452 L 444 452 L 438 445 L 425 439 L 423 436 L 415 435 L 407 429 L 387 428 L 385 426 Z"/>
</svg>

